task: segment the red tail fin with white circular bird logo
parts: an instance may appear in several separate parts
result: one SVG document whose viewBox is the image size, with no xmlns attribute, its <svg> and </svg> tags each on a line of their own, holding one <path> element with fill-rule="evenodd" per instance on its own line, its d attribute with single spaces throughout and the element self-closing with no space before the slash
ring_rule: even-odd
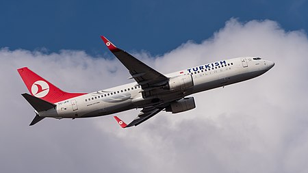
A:
<svg viewBox="0 0 308 173">
<path fill-rule="evenodd" d="M 43 79 L 39 75 L 36 75 L 35 72 L 29 70 L 29 68 L 27 67 L 19 68 L 17 70 L 31 95 L 41 98 L 44 101 L 48 101 L 50 103 L 57 103 L 59 101 L 64 101 L 68 98 L 73 98 L 75 96 L 81 96 L 83 94 L 86 94 L 64 92 L 49 81 Z"/>
</svg>

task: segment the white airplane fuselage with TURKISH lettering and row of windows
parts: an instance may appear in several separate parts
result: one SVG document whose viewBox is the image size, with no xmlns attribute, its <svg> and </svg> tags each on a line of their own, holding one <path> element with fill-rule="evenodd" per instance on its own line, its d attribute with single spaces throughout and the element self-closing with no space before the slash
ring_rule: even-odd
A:
<svg viewBox="0 0 308 173">
<path fill-rule="evenodd" d="M 193 86 L 185 89 L 181 94 L 166 92 L 151 97 L 142 97 L 142 88 L 138 83 L 128 83 L 106 90 L 100 90 L 65 101 L 55 103 L 56 109 L 38 112 L 40 116 L 53 118 L 86 118 L 105 116 L 128 109 L 144 107 L 153 103 L 153 99 L 163 102 L 177 101 L 184 96 L 203 92 L 213 88 L 230 85 L 252 79 L 264 74 L 274 66 L 273 62 L 259 59 L 259 57 L 238 57 L 220 62 L 203 64 L 178 72 L 167 74 L 166 77 L 191 75 Z"/>
</svg>

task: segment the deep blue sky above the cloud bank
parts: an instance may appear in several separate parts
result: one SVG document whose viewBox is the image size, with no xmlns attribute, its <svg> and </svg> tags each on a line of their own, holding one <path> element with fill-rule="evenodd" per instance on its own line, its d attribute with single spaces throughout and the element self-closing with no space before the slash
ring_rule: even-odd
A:
<svg viewBox="0 0 308 173">
<path fill-rule="evenodd" d="M 85 50 L 100 55 L 100 35 L 127 51 L 162 55 L 188 40 L 201 42 L 230 18 L 270 19 L 286 30 L 308 29 L 299 1 L 1 1 L 0 47 Z"/>
</svg>

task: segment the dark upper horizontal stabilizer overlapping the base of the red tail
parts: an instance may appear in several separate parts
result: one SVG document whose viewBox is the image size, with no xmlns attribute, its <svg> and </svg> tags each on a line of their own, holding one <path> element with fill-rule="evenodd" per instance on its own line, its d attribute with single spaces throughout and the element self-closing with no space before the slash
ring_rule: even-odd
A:
<svg viewBox="0 0 308 173">
<path fill-rule="evenodd" d="M 30 105 L 36 109 L 36 111 L 47 111 L 49 109 L 55 108 L 55 104 L 44 101 L 36 96 L 31 96 L 30 94 L 24 93 L 21 94 Z M 34 118 L 35 119 L 35 118 Z"/>
</svg>

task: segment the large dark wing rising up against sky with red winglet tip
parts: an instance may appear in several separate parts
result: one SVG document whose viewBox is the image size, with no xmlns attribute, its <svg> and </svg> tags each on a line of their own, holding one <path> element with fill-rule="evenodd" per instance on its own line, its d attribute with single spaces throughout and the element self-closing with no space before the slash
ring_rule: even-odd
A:
<svg viewBox="0 0 308 173">
<path fill-rule="evenodd" d="M 110 40 L 104 36 L 101 39 L 105 42 L 107 48 L 122 62 L 129 70 L 131 78 L 135 79 L 142 89 L 163 85 L 168 81 L 168 77 L 147 66 L 140 60 L 136 59 L 126 51 L 118 49 Z"/>
</svg>

